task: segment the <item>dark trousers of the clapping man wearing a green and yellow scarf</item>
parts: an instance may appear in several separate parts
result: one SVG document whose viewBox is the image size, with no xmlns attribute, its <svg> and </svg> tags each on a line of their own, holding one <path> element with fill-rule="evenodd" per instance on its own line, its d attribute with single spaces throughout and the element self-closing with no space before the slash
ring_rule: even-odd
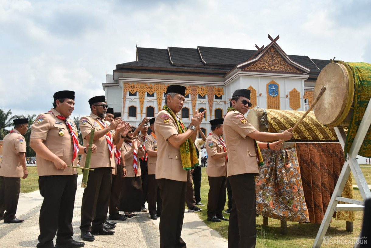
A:
<svg viewBox="0 0 371 248">
<path fill-rule="evenodd" d="M 180 237 L 183 226 L 187 182 L 157 179 L 161 189 L 160 247 L 186 248 Z"/>
</svg>

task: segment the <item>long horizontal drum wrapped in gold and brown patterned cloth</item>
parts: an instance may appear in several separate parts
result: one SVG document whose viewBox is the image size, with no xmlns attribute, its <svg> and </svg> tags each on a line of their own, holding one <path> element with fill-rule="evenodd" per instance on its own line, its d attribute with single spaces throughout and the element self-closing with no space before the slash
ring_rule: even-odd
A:
<svg viewBox="0 0 371 248">
<path fill-rule="evenodd" d="M 302 118 L 305 111 L 278 109 L 250 109 L 247 120 L 260 132 L 278 133 L 289 129 Z M 338 140 L 334 128 L 322 125 L 313 112 L 299 124 L 294 132 L 292 142 L 336 142 Z"/>
</svg>

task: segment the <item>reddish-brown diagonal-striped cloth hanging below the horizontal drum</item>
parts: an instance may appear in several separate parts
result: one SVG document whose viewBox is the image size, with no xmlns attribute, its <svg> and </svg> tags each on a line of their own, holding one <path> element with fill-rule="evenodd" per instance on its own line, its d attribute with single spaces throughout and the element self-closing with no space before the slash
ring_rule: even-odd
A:
<svg viewBox="0 0 371 248">
<path fill-rule="evenodd" d="M 309 221 L 321 223 L 344 165 L 344 152 L 339 143 L 296 143 L 296 152 Z M 353 198 L 351 179 L 342 196 Z M 342 219 L 354 221 L 354 211 L 342 212 Z"/>
</svg>

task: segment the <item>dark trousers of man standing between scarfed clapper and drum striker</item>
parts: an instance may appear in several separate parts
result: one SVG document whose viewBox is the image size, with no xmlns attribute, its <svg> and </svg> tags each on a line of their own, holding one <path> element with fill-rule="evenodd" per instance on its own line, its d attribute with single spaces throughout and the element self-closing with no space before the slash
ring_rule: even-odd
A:
<svg viewBox="0 0 371 248">
<path fill-rule="evenodd" d="M 207 217 L 223 216 L 224 205 L 226 204 L 226 177 L 208 176 L 209 199 L 207 201 Z"/>
</svg>

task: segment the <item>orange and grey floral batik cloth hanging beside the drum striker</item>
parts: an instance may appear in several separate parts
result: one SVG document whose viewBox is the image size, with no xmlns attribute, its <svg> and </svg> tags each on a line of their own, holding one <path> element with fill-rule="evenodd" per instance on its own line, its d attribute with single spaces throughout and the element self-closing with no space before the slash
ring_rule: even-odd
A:
<svg viewBox="0 0 371 248">
<path fill-rule="evenodd" d="M 295 147 L 262 150 L 256 178 L 256 213 L 283 221 L 309 222 Z"/>
</svg>

